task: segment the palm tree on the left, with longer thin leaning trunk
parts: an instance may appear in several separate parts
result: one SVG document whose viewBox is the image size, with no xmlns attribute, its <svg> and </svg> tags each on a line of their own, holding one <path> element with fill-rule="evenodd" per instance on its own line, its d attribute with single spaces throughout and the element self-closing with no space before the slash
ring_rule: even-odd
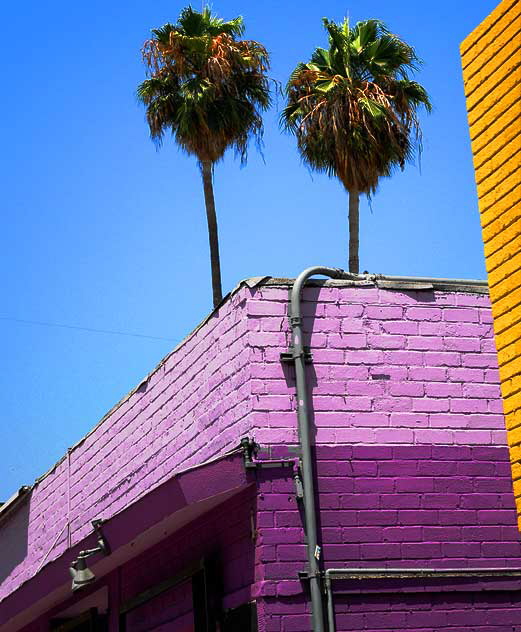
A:
<svg viewBox="0 0 521 632">
<path fill-rule="evenodd" d="M 269 58 L 258 42 L 239 40 L 243 20 L 225 22 L 191 6 L 177 24 L 153 29 L 143 46 L 147 79 L 137 90 L 146 106 L 152 140 L 159 147 L 170 131 L 199 163 L 203 179 L 213 304 L 222 300 L 213 170 L 229 147 L 246 161 L 248 142 L 262 139 L 261 112 L 270 105 Z"/>
</svg>

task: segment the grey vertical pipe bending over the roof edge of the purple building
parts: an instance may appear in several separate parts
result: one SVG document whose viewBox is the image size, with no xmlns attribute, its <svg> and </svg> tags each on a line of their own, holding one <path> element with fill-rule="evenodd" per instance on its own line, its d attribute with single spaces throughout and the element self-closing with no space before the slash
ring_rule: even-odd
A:
<svg viewBox="0 0 521 632">
<path fill-rule="evenodd" d="M 307 537 L 307 555 L 309 565 L 309 587 L 311 592 L 311 616 L 313 632 L 324 632 L 324 609 L 322 602 L 320 576 L 320 548 L 317 538 L 317 515 L 315 506 L 315 486 L 313 476 L 313 458 L 311 454 L 311 433 L 308 412 L 308 387 L 304 364 L 304 343 L 302 310 L 300 299 L 305 282 L 313 275 L 321 274 L 338 278 L 350 278 L 344 270 L 337 268 L 307 268 L 297 277 L 291 290 L 290 326 L 292 335 L 292 359 L 295 362 L 297 383 L 297 414 L 300 449 L 302 458 L 302 485 L 304 490 L 304 519 Z"/>
</svg>

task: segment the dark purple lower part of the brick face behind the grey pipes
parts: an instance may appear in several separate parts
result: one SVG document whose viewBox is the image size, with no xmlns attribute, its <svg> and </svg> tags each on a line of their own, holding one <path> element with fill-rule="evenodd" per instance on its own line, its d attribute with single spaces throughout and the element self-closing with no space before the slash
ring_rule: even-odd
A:
<svg viewBox="0 0 521 632">
<path fill-rule="evenodd" d="M 506 447 L 318 446 L 317 463 L 326 568 L 521 566 Z M 304 632 L 309 599 L 297 573 L 306 550 L 294 483 L 284 470 L 266 470 L 259 482 L 260 630 Z M 519 580 L 333 586 L 338 632 L 521 629 Z"/>
</svg>

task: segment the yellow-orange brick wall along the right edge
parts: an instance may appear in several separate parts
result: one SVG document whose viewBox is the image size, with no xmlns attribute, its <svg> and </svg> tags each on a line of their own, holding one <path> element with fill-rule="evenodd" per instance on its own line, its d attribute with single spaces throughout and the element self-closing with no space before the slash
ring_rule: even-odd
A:
<svg viewBox="0 0 521 632">
<path fill-rule="evenodd" d="M 521 2 L 503 0 L 461 59 L 521 530 Z"/>
</svg>

